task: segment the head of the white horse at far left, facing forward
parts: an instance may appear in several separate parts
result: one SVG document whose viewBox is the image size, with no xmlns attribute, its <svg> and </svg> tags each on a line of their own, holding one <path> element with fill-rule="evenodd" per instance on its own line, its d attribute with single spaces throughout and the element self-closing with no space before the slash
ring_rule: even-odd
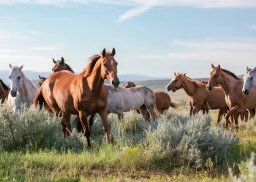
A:
<svg viewBox="0 0 256 182">
<path fill-rule="evenodd" d="M 9 65 L 11 71 L 9 75 L 10 79 L 10 92 L 12 97 L 16 97 L 18 89 L 20 88 L 20 85 L 22 85 L 22 77 L 23 73 L 21 72 L 23 66 L 17 67 L 10 64 Z"/>
</svg>

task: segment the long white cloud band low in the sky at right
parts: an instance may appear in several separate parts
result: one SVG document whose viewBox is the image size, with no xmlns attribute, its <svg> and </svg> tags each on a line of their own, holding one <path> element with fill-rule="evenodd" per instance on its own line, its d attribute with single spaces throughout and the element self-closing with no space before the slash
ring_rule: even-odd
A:
<svg viewBox="0 0 256 182">
<path fill-rule="evenodd" d="M 138 55 L 131 57 L 142 60 L 167 60 L 167 61 L 214 61 L 229 63 L 255 63 L 256 41 L 216 41 L 216 40 L 193 40 L 173 41 L 175 47 L 187 47 L 186 52 L 167 52 L 163 55 Z"/>
</svg>

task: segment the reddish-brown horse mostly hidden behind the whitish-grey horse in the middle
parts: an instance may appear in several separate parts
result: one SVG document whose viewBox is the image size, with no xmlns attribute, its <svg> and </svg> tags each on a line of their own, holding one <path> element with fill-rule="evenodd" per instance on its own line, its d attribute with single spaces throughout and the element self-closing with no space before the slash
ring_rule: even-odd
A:
<svg viewBox="0 0 256 182">
<path fill-rule="evenodd" d="M 126 83 L 124 83 L 123 87 L 131 88 L 131 87 L 136 87 L 136 85 L 134 82 L 126 82 Z M 169 107 L 172 107 L 172 108 L 178 107 L 176 103 L 171 101 L 170 96 L 167 93 L 157 90 L 157 91 L 154 91 L 154 95 L 156 95 L 156 105 L 157 105 L 157 110 L 159 111 L 159 113 L 164 114 L 169 109 Z M 143 105 L 141 107 L 144 108 L 145 105 Z M 141 109 L 143 109 L 143 108 L 141 108 Z M 140 114 L 140 110 L 136 109 L 138 114 Z M 149 112 L 147 111 L 146 119 L 149 120 L 149 118 L 150 118 L 150 115 L 149 115 Z"/>
</svg>

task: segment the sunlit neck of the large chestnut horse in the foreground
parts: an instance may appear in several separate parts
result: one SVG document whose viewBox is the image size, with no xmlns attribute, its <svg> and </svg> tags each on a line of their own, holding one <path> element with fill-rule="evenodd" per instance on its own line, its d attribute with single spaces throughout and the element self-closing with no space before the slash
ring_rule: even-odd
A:
<svg viewBox="0 0 256 182">
<path fill-rule="evenodd" d="M 101 76 L 101 63 L 99 63 L 99 60 L 94 66 L 94 69 L 91 71 L 91 74 L 87 77 L 83 76 L 83 84 L 85 83 L 84 79 L 86 79 L 86 84 L 92 93 L 96 95 L 99 94 L 99 91 L 102 88 L 102 84 L 104 83 L 104 79 L 102 79 Z"/>
</svg>

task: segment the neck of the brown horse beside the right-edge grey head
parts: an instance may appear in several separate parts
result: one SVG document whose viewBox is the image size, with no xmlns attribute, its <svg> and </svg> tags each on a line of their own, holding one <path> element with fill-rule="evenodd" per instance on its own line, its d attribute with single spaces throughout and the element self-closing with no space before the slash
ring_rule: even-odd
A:
<svg viewBox="0 0 256 182">
<path fill-rule="evenodd" d="M 235 79 L 233 76 L 226 74 L 222 71 L 222 83 L 220 85 L 226 95 L 232 92 L 234 90 L 234 87 L 236 87 L 237 83 L 240 81 L 241 80 Z"/>
</svg>

